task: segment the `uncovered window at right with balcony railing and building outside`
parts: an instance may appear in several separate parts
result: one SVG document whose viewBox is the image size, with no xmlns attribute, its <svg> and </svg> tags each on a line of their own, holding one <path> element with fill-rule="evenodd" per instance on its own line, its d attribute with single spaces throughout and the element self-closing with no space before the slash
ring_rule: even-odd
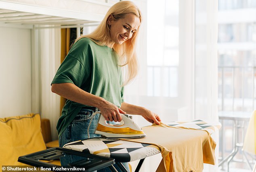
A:
<svg viewBox="0 0 256 172">
<path fill-rule="evenodd" d="M 223 116 L 250 118 L 256 109 L 255 11 L 255 0 L 218 1 L 218 114 L 222 119 L 222 160 L 231 153 L 233 145 L 237 145 L 235 141 L 243 143 L 248 126 L 243 120 L 237 120 L 235 124 L 232 120 L 223 120 Z M 235 126 L 240 127 L 236 139 Z M 235 158 L 244 158 L 241 151 Z M 235 166 L 248 169 L 244 163 Z"/>
</svg>

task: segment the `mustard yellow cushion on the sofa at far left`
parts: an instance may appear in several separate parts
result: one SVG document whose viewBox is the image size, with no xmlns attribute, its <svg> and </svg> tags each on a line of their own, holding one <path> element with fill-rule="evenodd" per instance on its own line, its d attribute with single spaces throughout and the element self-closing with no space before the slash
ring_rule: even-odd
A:
<svg viewBox="0 0 256 172">
<path fill-rule="evenodd" d="M 21 165 L 18 157 L 46 149 L 39 114 L 0 118 L 0 164 Z"/>
</svg>

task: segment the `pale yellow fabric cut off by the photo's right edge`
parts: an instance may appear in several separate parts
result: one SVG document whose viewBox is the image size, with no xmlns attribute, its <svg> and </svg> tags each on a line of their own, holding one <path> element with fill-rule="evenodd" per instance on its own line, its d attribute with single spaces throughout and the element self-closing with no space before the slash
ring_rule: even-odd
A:
<svg viewBox="0 0 256 172">
<path fill-rule="evenodd" d="M 249 120 L 246 136 L 243 141 L 243 151 L 256 155 L 256 111 L 252 113 Z"/>
</svg>

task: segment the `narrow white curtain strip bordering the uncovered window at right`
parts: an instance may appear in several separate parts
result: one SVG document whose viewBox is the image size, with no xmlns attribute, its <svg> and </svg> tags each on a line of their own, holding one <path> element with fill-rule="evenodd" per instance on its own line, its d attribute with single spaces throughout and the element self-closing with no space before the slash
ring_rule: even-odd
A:
<svg viewBox="0 0 256 172">
<path fill-rule="evenodd" d="M 218 121 L 218 1 L 195 0 L 195 118 Z M 216 165 L 204 171 L 218 171 L 218 132 Z"/>
</svg>

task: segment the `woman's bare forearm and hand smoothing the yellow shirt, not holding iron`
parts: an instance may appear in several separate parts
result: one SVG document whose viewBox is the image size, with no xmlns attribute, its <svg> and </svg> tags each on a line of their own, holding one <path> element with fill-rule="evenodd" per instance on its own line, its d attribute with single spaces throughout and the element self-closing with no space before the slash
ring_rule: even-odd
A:
<svg viewBox="0 0 256 172">
<path fill-rule="evenodd" d="M 121 108 L 123 111 L 125 111 L 127 114 L 135 114 L 135 115 L 141 115 L 143 118 L 145 118 L 147 121 L 155 124 L 160 124 L 161 119 L 159 116 L 150 110 L 143 108 L 141 106 L 136 106 L 133 104 L 128 104 L 126 102 L 123 102 L 121 104 Z"/>
</svg>

